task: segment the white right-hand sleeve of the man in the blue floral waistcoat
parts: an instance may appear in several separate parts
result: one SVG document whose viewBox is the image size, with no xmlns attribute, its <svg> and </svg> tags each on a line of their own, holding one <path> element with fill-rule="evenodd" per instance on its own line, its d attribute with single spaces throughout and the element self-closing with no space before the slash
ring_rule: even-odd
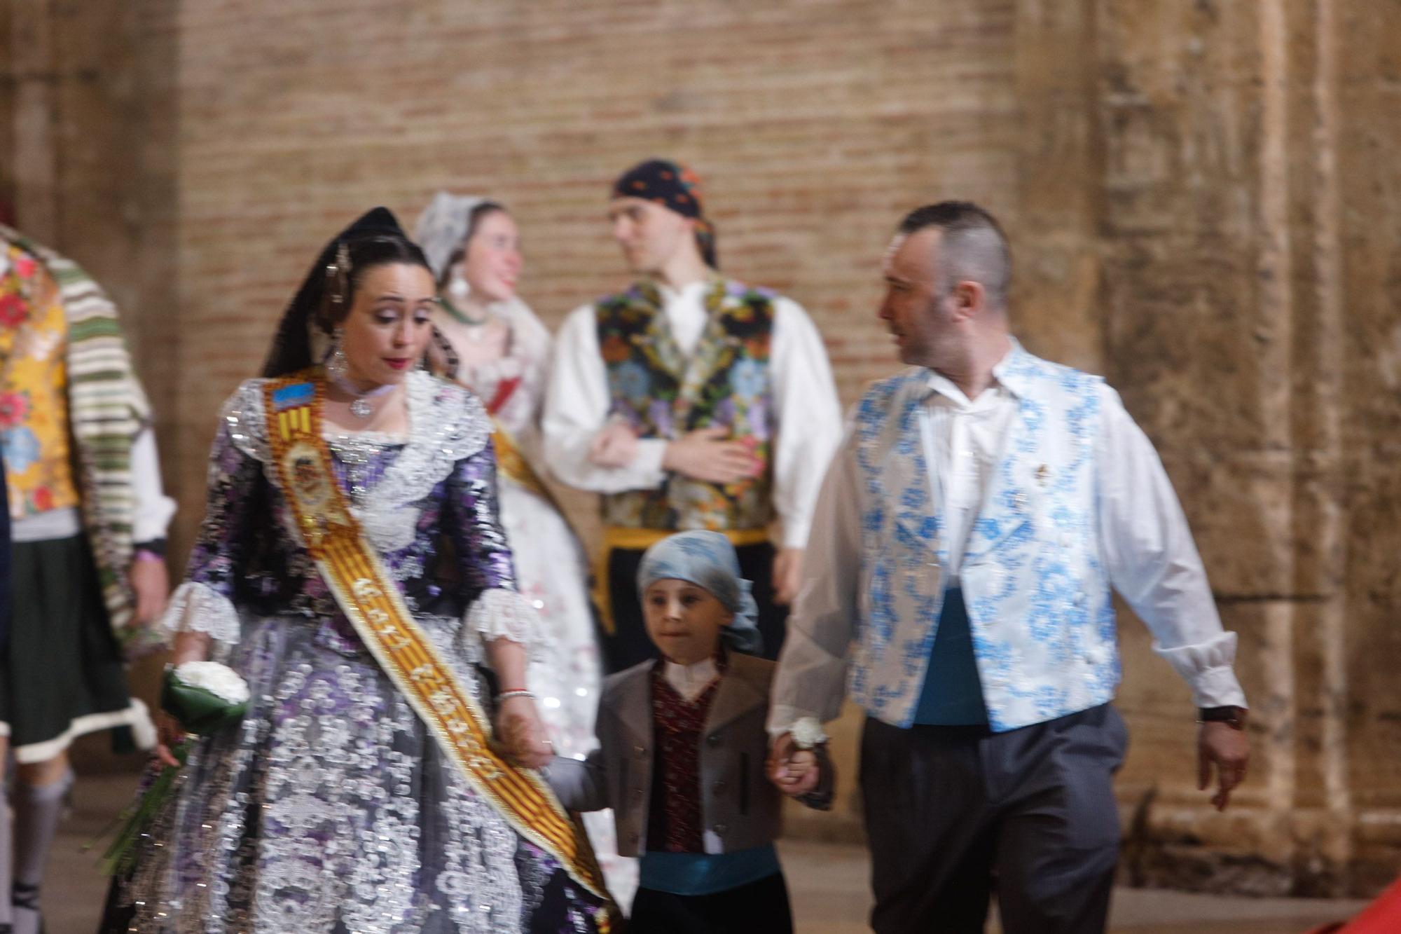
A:
<svg viewBox="0 0 1401 934">
<path fill-rule="evenodd" d="M 1153 443 L 1101 390 L 1100 540 L 1110 582 L 1153 632 L 1153 651 L 1192 689 L 1198 707 L 1245 707 L 1236 634 L 1222 628 L 1187 516 Z"/>
</svg>

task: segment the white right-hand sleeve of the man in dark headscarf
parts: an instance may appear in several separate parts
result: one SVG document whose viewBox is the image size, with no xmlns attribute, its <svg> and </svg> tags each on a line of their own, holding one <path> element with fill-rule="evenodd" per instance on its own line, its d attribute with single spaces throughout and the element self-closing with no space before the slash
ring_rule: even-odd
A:
<svg viewBox="0 0 1401 934">
<path fill-rule="evenodd" d="M 783 547 L 803 548 L 822 477 L 842 440 L 842 410 L 822 337 L 792 299 L 773 303 L 769 366 L 778 408 L 773 508 L 783 520 Z"/>
</svg>

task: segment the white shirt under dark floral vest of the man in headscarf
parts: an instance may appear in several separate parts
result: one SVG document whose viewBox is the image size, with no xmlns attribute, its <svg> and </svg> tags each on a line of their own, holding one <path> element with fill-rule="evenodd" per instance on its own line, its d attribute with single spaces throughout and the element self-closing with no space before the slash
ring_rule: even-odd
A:
<svg viewBox="0 0 1401 934">
<path fill-rule="evenodd" d="M 682 353 L 691 355 L 705 331 L 708 280 L 681 289 L 658 286 L 663 314 Z M 778 432 L 773 440 L 773 508 L 783 523 L 782 544 L 807 544 L 822 474 L 841 440 L 842 418 L 827 348 L 811 318 L 796 302 L 773 299 L 769 374 Z M 555 339 L 545 391 L 542 426 L 545 463 L 563 482 L 600 494 L 653 489 L 665 480 L 661 459 L 667 439 L 644 438 L 626 467 L 588 460 L 594 435 L 608 422 L 608 372 L 598 351 L 594 306 L 576 309 Z"/>
</svg>

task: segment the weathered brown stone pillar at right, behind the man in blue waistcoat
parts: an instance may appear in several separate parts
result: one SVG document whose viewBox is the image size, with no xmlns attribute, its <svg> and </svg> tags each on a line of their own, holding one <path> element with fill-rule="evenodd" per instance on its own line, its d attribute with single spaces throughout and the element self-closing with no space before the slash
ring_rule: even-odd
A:
<svg viewBox="0 0 1401 934">
<path fill-rule="evenodd" d="M 1397 14 L 1097 4 L 1107 369 L 1240 632 L 1255 745 L 1212 812 L 1185 693 L 1125 625 L 1132 879 L 1366 893 L 1394 868 Z"/>
</svg>

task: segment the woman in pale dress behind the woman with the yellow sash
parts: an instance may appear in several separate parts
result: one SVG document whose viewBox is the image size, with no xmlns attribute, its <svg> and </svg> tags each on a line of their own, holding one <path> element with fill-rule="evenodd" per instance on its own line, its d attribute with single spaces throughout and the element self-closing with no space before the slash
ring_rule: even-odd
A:
<svg viewBox="0 0 1401 934">
<path fill-rule="evenodd" d="M 583 547 L 534 467 L 551 338 L 516 295 L 524 265 L 516 220 L 499 202 L 444 191 L 413 236 L 439 282 L 433 320 L 447 346 L 430 353 L 439 369 L 451 369 L 451 379 L 476 393 L 496 422 L 502 524 L 514 548 L 516 585 L 548 634 L 531 655 L 525 682 L 558 753 L 583 759 L 598 745 L 602 663 Z M 618 855 L 611 813 L 584 815 L 584 826 L 609 892 L 629 905 L 637 862 Z"/>
</svg>

